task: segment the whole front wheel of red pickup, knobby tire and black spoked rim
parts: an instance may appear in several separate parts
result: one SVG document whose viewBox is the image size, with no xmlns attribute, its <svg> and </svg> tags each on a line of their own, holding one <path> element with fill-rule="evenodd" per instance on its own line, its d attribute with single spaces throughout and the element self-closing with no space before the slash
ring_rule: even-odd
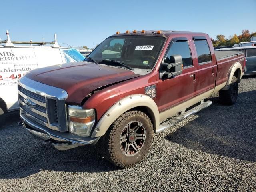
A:
<svg viewBox="0 0 256 192">
<path fill-rule="evenodd" d="M 99 141 L 104 157 L 121 168 L 130 167 L 146 156 L 153 142 L 153 125 L 141 111 L 125 112 Z"/>
</svg>

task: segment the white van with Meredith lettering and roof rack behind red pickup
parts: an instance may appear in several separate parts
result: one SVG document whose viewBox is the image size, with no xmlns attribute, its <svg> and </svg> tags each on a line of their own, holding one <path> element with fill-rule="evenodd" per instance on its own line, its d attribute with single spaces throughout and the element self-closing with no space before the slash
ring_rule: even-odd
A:
<svg viewBox="0 0 256 192">
<path fill-rule="evenodd" d="M 8 30 L 6 35 L 7 40 L 0 41 L 0 126 L 4 123 L 5 113 L 19 109 L 17 83 L 26 72 L 85 59 L 76 49 L 59 46 L 56 35 L 52 42 L 12 42 Z M 43 46 L 46 44 L 53 46 Z"/>
</svg>

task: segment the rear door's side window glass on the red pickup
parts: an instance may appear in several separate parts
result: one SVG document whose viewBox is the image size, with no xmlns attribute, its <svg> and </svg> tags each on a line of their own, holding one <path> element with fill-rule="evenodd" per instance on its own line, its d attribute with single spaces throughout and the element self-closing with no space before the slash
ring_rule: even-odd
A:
<svg viewBox="0 0 256 192">
<path fill-rule="evenodd" d="M 194 40 L 198 63 L 204 63 L 212 60 L 210 49 L 206 40 Z"/>
</svg>

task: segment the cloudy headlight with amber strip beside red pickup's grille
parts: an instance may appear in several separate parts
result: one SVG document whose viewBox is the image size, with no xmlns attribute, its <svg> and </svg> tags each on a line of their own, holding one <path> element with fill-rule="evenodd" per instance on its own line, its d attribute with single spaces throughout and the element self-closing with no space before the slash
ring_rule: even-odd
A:
<svg viewBox="0 0 256 192">
<path fill-rule="evenodd" d="M 95 122 L 94 109 L 83 109 L 79 106 L 68 106 L 68 126 L 70 133 L 79 136 L 90 136 Z"/>
</svg>

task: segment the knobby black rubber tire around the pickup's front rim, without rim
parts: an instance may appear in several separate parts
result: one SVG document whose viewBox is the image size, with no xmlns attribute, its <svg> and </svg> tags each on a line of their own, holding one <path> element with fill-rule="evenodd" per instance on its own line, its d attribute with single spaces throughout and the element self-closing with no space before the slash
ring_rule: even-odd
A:
<svg viewBox="0 0 256 192">
<path fill-rule="evenodd" d="M 120 136 L 122 135 L 123 128 L 132 121 L 138 121 L 144 125 L 146 139 L 137 154 L 126 156 L 120 148 Z M 150 118 L 141 111 L 128 111 L 115 120 L 110 128 L 108 128 L 106 134 L 100 138 L 98 144 L 100 145 L 100 152 L 102 152 L 104 158 L 120 168 L 126 168 L 134 166 L 146 156 L 152 145 L 153 138 L 154 130 Z"/>
</svg>

